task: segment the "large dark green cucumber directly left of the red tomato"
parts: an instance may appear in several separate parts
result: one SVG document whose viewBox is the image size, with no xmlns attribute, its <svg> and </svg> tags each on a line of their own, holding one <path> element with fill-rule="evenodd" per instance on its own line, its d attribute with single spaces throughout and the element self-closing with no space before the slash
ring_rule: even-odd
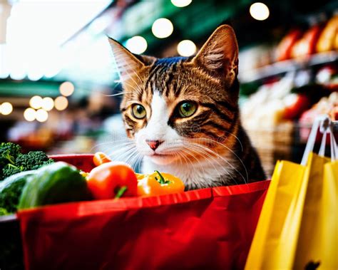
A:
<svg viewBox="0 0 338 270">
<path fill-rule="evenodd" d="M 36 170 L 25 185 L 18 209 L 91 199 L 86 178 L 73 165 L 55 162 Z"/>
</svg>

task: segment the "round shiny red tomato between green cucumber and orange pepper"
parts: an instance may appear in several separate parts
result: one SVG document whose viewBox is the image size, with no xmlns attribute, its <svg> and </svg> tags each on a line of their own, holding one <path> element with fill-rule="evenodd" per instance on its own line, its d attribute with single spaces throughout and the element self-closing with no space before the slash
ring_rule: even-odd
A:
<svg viewBox="0 0 338 270">
<path fill-rule="evenodd" d="M 115 198 L 118 192 L 125 187 L 126 192 L 123 196 L 136 196 L 137 194 L 138 180 L 135 172 L 123 162 L 112 161 L 93 168 L 89 172 L 87 183 L 95 199 Z"/>
</svg>

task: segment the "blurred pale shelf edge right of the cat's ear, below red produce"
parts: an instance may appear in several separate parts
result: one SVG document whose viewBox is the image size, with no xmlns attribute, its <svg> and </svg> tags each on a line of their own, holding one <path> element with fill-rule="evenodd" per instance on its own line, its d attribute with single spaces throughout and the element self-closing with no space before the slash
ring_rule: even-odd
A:
<svg viewBox="0 0 338 270">
<path fill-rule="evenodd" d="M 272 76 L 277 76 L 282 73 L 290 71 L 298 71 L 303 68 L 318 66 L 325 63 L 333 63 L 338 61 L 337 51 L 328 51 L 324 53 L 316 53 L 307 58 L 296 58 L 286 61 L 272 63 L 268 66 L 256 68 L 252 71 L 245 71 L 239 73 L 238 78 L 241 83 L 250 83 L 252 81 L 259 81 Z"/>
</svg>

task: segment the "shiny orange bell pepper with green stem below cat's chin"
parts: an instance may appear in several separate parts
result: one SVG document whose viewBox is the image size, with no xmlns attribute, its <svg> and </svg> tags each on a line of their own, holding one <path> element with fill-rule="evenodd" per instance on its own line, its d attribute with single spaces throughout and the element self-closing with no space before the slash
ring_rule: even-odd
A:
<svg viewBox="0 0 338 270">
<path fill-rule="evenodd" d="M 155 196 L 184 191 L 184 184 L 178 177 L 155 171 L 150 175 L 138 175 L 138 196 Z"/>
</svg>

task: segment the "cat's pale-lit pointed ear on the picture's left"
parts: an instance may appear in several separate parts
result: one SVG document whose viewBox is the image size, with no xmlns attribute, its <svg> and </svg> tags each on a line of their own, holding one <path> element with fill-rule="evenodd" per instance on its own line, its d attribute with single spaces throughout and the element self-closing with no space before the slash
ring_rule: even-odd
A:
<svg viewBox="0 0 338 270">
<path fill-rule="evenodd" d="M 108 38 L 108 41 L 122 79 L 133 73 L 138 73 L 141 68 L 155 61 L 155 58 L 151 56 L 134 55 L 113 38 Z"/>
</svg>

